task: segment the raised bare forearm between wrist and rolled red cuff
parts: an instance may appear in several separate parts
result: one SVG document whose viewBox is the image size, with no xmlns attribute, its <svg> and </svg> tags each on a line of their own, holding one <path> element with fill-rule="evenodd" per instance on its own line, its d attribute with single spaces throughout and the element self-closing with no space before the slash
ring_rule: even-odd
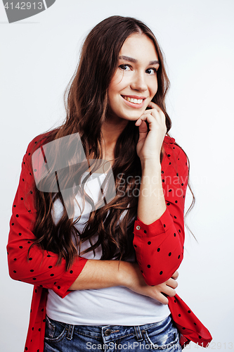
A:
<svg viewBox="0 0 234 352">
<path fill-rule="evenodd" d="M 142 177 L 137 215 L 145 225 L 149 225 L 162 216 L 167 206 L 162 189 L 160 161 L 147 160 L 141 165 Z"/>
</svg>

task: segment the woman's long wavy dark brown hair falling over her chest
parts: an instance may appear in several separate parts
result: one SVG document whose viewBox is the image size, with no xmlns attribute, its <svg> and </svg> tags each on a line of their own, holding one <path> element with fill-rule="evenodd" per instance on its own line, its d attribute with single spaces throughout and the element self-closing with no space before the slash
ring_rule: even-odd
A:
<svg viewBox="0 0 234 352">
<path fill-rule="evenodd" d="M 166 111 L 165 96 L 169 89 L 169 79 L 157 39 L 140 20 L 115 15 L 98 23 L 86 37 L 79 63 L 64 94 L 65 122 L 56 130 L 46 134 L 46 137 L 41 139 L 43 144 L 79 133 L 87 160 L 103 158 L 101 127 L 108 114 L 108 87 L 117 69 L 119 51 L 126 38 L 133 33 L 145 34 L 155 44 L 160 67 L 157 70 L 157 94 L 152 101 L 160 106 L 166 116 L 168 134 L 171 119 Z M 93 208 L 82 233 L 74 226 L 80 217 L 75 222 L 73 218 L 68 217 L 65 199 L 60 191 L 43 192 L 37 189 L 38 216 L 34 228 L 37 240 L 32 246 L 37 244 L 41 246 L 41 249 L 58 253 L 58 264 L 62 258 L 65 258 L 67 269 L 77 256 L 77 248 L 79 254 L 89 251 L 95 254 L 95 249 L 100 245 L 103 260 L 125 260 L 133 255 L 134 220 L 136 220 L 138 206 L 136 191 L 140 186 L 136 180 L 137 177 L 141 177 L 141 162 L 136 153 L 137 142 L 138 127 L 135 126 L 135 121 L 129 121 L 115 145 L 115 164 L 112 172 L 115 178 L 116 196 L 105 206 L 98 209 Z M 163 152 L 162 149 L 161 162 Z M 84 165 L 82 164 L 76 169 L 70 168 L 66 174 L 68 175 L 67 184 L 72 180 L 80 182 L 83 172 Z M 131 182 L 126 182 L 126 180 L 131 180 Z M 92 200 L 84 189 L 82 196 L 93 206 Z M 57 199 L 60 199 L 63 204 L 63 216 L 58 223 L 55 223 L 52 213 L 53 204 Z M 71 191 L 70 201 L 69 196 L 66 200 L 69 203 L 70 213 L 74 213 L 73 199 L 74 194 L 72 198 Z M 98 235 L 95 243 L 93 243 L 93 235 Z M 80 244 L 86 240 L 89 240 L 90 247 L 80 253 Z"/>
</svg>

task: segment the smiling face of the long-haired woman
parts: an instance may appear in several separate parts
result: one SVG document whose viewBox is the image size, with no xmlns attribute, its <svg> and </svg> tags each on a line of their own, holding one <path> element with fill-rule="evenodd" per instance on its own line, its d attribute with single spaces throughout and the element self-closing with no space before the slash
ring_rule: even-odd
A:
<svg viewBox="0 0 234 352">
<path fill-rule="evenodd" d="M 119 65 L 108 88 L 111 115 L 137 120 L 157 92 L 155 45 L 145 34 L 131 34 L 119 52 Z"/>
</svg>

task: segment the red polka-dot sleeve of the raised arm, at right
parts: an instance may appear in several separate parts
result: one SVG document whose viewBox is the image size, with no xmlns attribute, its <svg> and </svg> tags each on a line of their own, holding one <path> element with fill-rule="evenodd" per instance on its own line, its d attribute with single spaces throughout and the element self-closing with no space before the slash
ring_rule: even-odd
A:
<svg viewBox="0 0 234 352">
<path fill-rule="evenodd" d="M 149 285 L 167 281 L 183 259 L 188 163 L 185 153 L 176 144 L 164 144 L 164 149 L 162 187 L 167 209 L 150 225 L 145 225 L 138 218 L 134 224 L 136 258 Z"/>
</svg>

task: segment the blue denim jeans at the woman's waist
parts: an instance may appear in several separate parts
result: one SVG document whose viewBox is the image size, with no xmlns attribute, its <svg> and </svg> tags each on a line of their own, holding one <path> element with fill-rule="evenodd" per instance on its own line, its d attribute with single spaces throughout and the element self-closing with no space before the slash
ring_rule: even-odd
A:
<svg viewBox="0 0 234 352">
<path fill-rule="evenodd" d="M 182 351 L 171 315 L 139 326 L 69 325 L 46 316 L 44 352 Z"/>
</svg>

